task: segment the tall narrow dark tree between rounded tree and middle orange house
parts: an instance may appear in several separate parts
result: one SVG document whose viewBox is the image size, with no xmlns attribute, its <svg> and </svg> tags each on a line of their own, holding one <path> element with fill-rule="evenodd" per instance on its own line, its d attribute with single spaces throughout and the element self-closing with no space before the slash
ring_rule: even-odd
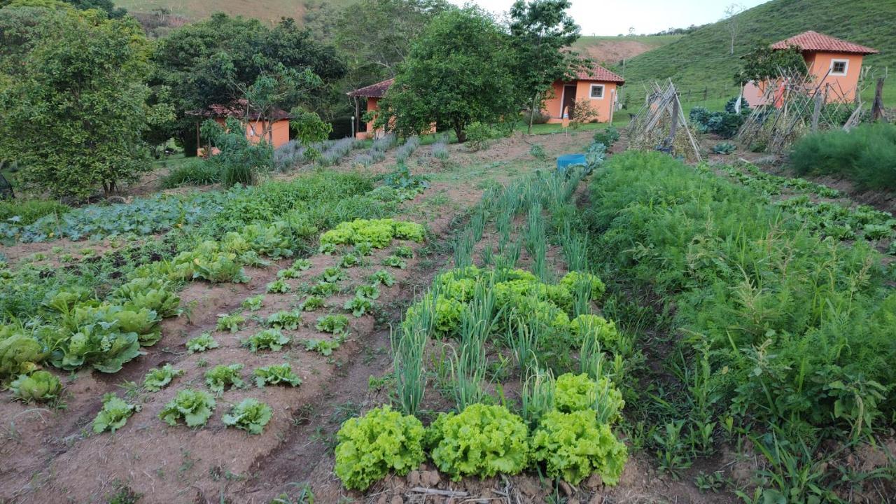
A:
<svg viewBox="0 0 896 504">
<path fill-rule="evenodd" d="M 517 0 L 510 9 L 510 34 L 515 52 L 514 76 L 517 87 L 530 101 L 529 133 L 537 110 L 542 109 L 547 92 L 557 79 L 571 77 L 581 65 L 579 58 L 564 48 L 579 39 L 579 26 L 566 13 L 569 0 Z"/>
</svg>

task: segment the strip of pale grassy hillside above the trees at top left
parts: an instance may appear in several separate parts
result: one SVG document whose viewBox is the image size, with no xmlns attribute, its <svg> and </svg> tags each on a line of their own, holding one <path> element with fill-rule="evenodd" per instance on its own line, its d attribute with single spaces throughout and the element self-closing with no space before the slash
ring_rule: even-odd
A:
<svg viewBox="0 0 896 504">
<path fill-rule="evenodd" d="M 326 4 L 340 7 L 352 0 L 327 0 Z M 265 22 L 277 22 L 280 17 L 301 20 L 308 8 L 319 5 L 316 0 L 116 0 L 116 5 L 134 13 L 149 13 L 165 8 L 187 19 L 202 19 L 211 13 L 239 14 Z"/>
</svg>

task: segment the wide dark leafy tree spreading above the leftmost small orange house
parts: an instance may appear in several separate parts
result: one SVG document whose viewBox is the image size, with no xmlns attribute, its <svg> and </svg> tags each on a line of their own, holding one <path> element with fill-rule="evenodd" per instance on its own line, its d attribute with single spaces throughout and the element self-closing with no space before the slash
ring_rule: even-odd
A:
<svg viewBox="0 0 896 504">
<path fill-rule="evenodd" d="M 170 91 L 178 136 L 188 152 L 194 146 L 195 126 L 187 111 L 245 99 L 246 90 L 256 83 L 282 83 L 306 70 L 323 83 L 332 83 L 346 72 L 334 49 L 315 42 L 292 19 L 281 19 L 270 28 L 255 19 L 224 13 L 173 30 L 159 41 L 153 60 L 157 71 L 152 83 Z M 295 93 L 275 94 L 282 97 L 275 103 L 280 109 L 297 104 Z"/>
</svg>

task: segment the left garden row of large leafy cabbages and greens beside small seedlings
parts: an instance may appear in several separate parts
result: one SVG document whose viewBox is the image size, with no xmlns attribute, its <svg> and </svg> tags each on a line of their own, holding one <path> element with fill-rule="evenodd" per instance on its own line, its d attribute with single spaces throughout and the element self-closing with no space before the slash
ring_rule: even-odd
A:
<svg viewBox="0 0 896 504">
<path fill-rule="evenodd" d="M 105 278 L 108 282 L 85 282 L 77 274 L 56 272 L 54 265 L 26 264 L 14 272 L 3 265 L 0 380 L 37 369 L 44 361 L 61 369 L 92 366 L 115 372 L 140 355 L 141 346 L 159 340 L 159 321 L 179 313 L 176 292 L 183 282 L 245 282 L 244 265 L 265 265 L 263 257 L 277 259 L 310 248 L 318 226 L 376 216 L 393 207 L 377 191 L 363 194 L 370 189 L 364 178 L 332 174 L 326 180 L 312 176 L 257 187 L 265 189 L 255 195 L 263 199 L 232 200 L 203 224 L 218 230 L 220 239 L 184 235 L 174 254 L 168 250 L 149 263 L 132 264 L 117 278 Z M 280 220 L 274 220 L 277 216 Z M 237 227 L 246 221 L 256 223 Z M 393 234 L 422 238 L 419 227 L 386 224 Z M 382 225 L 374 221 L 371 229 L 379 232 Z"/>
</svg>

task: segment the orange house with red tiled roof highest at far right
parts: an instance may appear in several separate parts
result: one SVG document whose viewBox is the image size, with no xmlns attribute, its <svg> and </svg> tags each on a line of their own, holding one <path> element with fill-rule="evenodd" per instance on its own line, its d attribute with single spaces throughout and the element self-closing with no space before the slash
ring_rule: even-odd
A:
<svg viewBox="0 0 896 504">
<path fill-rule="evenodd" d="M 800 49 L 806 68 L 813 77 L 810 84 L 813 87 L 821 86 L 821 92 L 828 103 L 856 100 L 862 59 L 866 55 L 880 52 L 812 30 L 771 44 L 772 49 L 789 47 Z M 768 83 L 747 83 L 744 87 L 747 102 L 751 105 L 761 104 L 767 85 Z M 780 98 L 776 97 L 776 100 Z"/>
</svg>

